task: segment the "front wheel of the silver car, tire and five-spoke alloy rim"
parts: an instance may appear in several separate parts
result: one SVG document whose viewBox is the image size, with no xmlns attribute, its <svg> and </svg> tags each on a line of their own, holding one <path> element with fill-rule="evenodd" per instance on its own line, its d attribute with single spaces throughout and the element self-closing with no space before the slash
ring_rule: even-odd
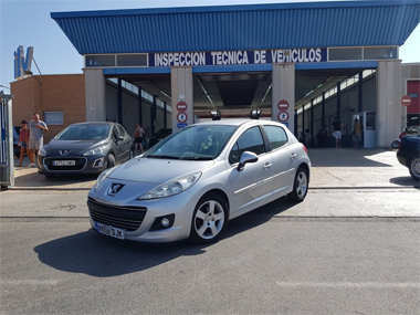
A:
<svg viewBox="0 0 420 315">
<path fill-rule="evenodd" d="M 217 242 L 228 227 L 229 210 L 224 199 L 214 192 L 204 195 L 192 213 L 189 241 L 196 244 Z"/>
</svg>

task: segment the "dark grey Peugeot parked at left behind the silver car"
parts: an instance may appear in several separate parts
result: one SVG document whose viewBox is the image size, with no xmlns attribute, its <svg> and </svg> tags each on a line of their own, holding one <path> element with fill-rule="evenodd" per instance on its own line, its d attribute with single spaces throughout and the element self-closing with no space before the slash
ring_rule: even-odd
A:
<svg viewBox="0 0 420 315">
<path fill-rule="evenodd" d="M 38 172 L 45 177 L 101 174 L 133 157 L 133 139 L 117 123 L 73 124 L 38 155 Z"/>
</svg>

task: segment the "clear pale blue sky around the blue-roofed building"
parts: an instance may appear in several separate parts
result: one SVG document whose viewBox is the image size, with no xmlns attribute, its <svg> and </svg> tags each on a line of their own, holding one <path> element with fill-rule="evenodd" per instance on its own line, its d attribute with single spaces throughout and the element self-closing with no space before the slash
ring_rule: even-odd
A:
<svg viewBox="0 0 420 315">
<path fill-rule="evenodd" d="M 14 81 L 13 52 L 19 45 L 24 52 L 34 48 L 33 57 L 42 74 L 82 73 L 83 57 L 51 19 L 51 12 L 281 2 L 311 0 L 0 0 L 0 85 L 10 87 Z M 403 63 L 420 62 L 420 27 L 400 48 L 400 59 Z M 39 74 L 34 63 L 32 72 Z"/>
</svg>

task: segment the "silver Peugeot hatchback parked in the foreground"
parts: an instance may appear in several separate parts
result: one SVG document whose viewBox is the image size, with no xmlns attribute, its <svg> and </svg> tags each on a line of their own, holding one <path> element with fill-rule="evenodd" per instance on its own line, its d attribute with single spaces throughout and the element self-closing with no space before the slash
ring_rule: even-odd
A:
<svg viewBox="0 0 420 315">
<path fill-rule="evenodd" d="M 309 172 L 305 146 L 280 123 L 200 123 L 103 171 L 91 224 L 122 240 L 214 242 L 233 218 L 285 195 L 303 201 Z"/>
</svg>

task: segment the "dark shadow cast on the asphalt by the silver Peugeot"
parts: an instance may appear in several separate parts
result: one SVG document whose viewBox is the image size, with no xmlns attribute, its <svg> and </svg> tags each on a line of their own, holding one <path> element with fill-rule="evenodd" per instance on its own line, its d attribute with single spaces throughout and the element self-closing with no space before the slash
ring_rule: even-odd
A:
<svg viewBox="0 0 420 315">
<path fill-rule="evenodd" d="M 229 238 L 240 238 L 241 233 L 266 223 L 293 204 L 282 198 L 231 220 L 222 239 L 213 244 L 195 245 L 188 241 L 167 244 L 120 241 L 90 229 L 40 244 L 33 250 L 42 263 L 55 270 L 96 277 L 118 276 L 148 270 L 180 256 L 206 254 L 209 246 L 217 246 Z"/>
</svg>

